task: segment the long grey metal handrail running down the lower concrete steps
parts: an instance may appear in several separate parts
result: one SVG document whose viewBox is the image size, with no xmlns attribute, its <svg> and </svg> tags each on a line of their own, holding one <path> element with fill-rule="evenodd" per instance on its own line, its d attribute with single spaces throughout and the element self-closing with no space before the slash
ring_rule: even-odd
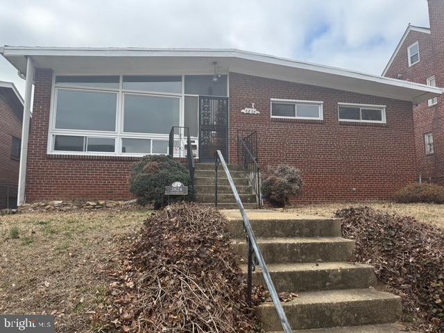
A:
<svg viewBox="0 0 444 333">
<path fill-rule="evenodd" d="M 268 273 L 268 268 L 266 267 L 264 257 L 262 256 L 262 252 L 259 248 L 259 245 L 257 244 L 255 233 L 253 232 L 253 227 L 251 226 L 250 220 L 248 219 L 247 213 L 244 209 L 244 205 L 242 204 L 241 197 L 239 196 L 239 193 L 237 192 L 236 186 L 234 185 L 233 178 L 231 177 L 230 171 L 228 170 L 227 164 L 225 163 L 225 160 L 223 159 L 223 155 L 221 151 L 216 151 L 214 154 L 214 166 L 216 170 L 216 197 L 217 197 L 217 169 L 219 167 L 219 161 L 222 164 L 223 170 L 225 171 L 225 174 L 227 175 L 228 182 L 230 182 L 231 190 L 234 194 L 234 198 L 236 199 L 236 203 L 239 207 L 239 211 L 241 212 L 242 219 L 244 220 L 244 228 L 247 233 L 247 242 L 248 242 L 248 275 L 247 275 L 247 299 L 248 302 L 251 304 L 251 291 L 252 291 L 252 284 L 253 284 L 253 271 L 254 271 L 254 262 L 253 262 L 253 253 L 255 254 L 255 257 L 257 259 L 257 263 L 259 264 L 260 268 L 262 269 L 262 275 L 264 275 L 264 280 L 266 283 L 266 287 L 268 288 L 268 291 L 270 291 L 271 299 L 273 300 L 273 304 L 276 308 L 276 311 L 278 312 L 278 316 L 280 319 L 280 322 L 282 324 L 282 328 L 284 329 L 285 333 L 291 333 L 293 330 L 291 330 L 290 323 L 287 319 L 287 315 L 285 314 L 284 308 L 282 307 L 282 304 L 279 300 L 278 292 L 275 289 L 275 286 L 273 284 L 273 280 L 271 280 L 270 273 Z M 217 203 L 217 198 L 216 198 Z"/>
</svg>

